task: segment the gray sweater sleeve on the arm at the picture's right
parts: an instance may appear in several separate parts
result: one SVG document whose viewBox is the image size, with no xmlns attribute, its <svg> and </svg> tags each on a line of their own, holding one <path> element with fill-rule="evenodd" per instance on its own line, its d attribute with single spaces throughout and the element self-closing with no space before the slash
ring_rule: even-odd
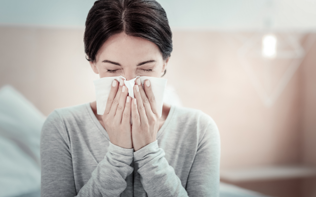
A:
<svg viewBox="0 0 316 197">
<path fill-rule="evenodd" d="M 157 140 L 134 152 L 149 197 L 219 197 L 220 138 L 214 122 L 200 139 L 186 189 L 164 156 Z"/>
</svg>

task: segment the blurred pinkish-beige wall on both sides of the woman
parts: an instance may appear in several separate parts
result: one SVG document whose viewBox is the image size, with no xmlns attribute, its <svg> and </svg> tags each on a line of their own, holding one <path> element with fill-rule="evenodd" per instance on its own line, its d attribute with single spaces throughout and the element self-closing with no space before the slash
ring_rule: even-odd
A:
<svg viewBox="0 0 316 197">
<path fill-rule="evenodd" d="M 173 33 L 168 84 L 184 106 L 201 109 L 217 123 L 221 168 L 316 165 L 315 44 L 276 102 L 266 106 L 237 56 L 251 33 Z M 45 115 L 95 99 L 92 80 L 98 76 L 84 58 L 83 30 L 0 27 L 0 35 L 0 86 L 12 84 Z M 251 63 L 262 79 L 264 63 Z M 284 65 L 273 67 L 272 87 Z M 304 183 L 309 194 L 311 181 Z"/>
</svg>

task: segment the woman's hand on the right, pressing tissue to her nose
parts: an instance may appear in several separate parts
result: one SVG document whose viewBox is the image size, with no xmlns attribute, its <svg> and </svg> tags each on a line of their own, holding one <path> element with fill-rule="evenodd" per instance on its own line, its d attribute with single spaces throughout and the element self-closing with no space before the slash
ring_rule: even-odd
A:
<svg viewBox="0 0 316 197">
<path fill-rule="evenodd" d="M 139 77 L 135 80 L 134 97 L 132 100 L 132 141 L 134 151 L 156 141 L 159 129 L 159 116 L 156 100 L 149 80 L 144 89 Z"/>
</svg>

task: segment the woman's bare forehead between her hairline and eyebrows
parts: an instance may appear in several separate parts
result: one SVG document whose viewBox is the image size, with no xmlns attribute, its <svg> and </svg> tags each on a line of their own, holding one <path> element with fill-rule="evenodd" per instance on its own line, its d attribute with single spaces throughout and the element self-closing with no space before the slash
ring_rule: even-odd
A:
<svg viewBox="0 0 316 197">
<path fill-rule="evenodd" d="M 96 60 L 97 62 L 105 59 L 118 62 L 126 60 L 137 62 L 157 58 L 162 59 L 162 55 L 155 43 L 140 37 L 118 33 L 104 42 L 98 51 Z"/>
</svg>

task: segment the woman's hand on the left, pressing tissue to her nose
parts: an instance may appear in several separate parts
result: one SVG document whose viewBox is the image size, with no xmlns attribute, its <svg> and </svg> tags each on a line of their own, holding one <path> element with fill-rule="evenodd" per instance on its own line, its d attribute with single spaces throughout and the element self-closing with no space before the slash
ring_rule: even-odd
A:
<svg viewBox="0 0 316 197">
<path fill-rule="evenodd" d="M 119 84 L 114 80 L 102 120 L 111 143 L 122 148 L 133 148 L 130 125 L 131 98 L 127 95 L 128 89 L 123 80 L 121 79 Z"/>
</svg>

